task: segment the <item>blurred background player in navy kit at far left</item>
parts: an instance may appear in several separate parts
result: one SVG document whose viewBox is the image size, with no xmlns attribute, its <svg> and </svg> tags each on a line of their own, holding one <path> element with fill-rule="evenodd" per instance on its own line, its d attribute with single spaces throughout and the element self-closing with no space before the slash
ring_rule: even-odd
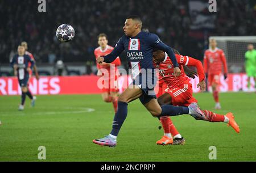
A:
<svg viewBox="0 0 256 173">
<path fill-rule="evenodd" d="M 32 96 L 31 92 L 28 90 L 28 79 L 30 78 L 31 68 L 34 66 L 35 62 L 25 54 L 25 48 L 21 45 L 18 47 L 18 54 L 15 54 L 11 60 L 11 67 L 14 68 L 14 75 L 17 75 L 19 85 L 22 90 L 22 101 L 19 105 L 18 110 L 22 111 L 24 109 L 24 103 L 26 95 L 31 99 L 31 106 L 35 105 L 35 97 Z"/>
</svg>

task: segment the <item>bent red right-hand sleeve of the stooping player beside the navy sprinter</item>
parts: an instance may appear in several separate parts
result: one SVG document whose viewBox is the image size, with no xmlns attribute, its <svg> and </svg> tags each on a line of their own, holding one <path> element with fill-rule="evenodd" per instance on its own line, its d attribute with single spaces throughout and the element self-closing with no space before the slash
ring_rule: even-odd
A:
<svg viewBox="0 0 256 173">
<path fill-rule="evenodd" d="M 204 67 L 201 61 L 188 56 L 176 56 L 179 65 L 195 66 L 197 69 L 197 74 L 199 76 L 199 81 L 204 80 Z"/>
</svg>

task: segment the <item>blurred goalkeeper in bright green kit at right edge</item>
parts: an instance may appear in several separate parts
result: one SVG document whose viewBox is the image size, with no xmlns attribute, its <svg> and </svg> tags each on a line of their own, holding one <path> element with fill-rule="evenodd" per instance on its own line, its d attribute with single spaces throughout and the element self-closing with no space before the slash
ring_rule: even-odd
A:
<svg viewBox="0 0 256 173">
<path fill-rule="evenodd" d="M 254 78 L 254 83 L 256 82 L 256 50 L 253 48 L 253 44 L 247 46 L 247 52 L 245 53 L 245 70 L 248 77 L 248 88 L 250 89 L 251 82 L 250 78 Z M 254 85 L 256 91 L 256 83 Z"/>
</svg>

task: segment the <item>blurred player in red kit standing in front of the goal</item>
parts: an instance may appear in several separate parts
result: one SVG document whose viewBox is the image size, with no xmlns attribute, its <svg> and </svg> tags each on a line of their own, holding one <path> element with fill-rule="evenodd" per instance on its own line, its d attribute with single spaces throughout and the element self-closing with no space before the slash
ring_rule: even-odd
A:
<svg viewBox="0 0 256 173">
<path fill-rule="evenodd" d="M 228 67 L 225 54 L 223 50 L 217 48 L 216 40 L 210 39 L 209 49 L 204 52 L 204 70 L 208 83 L 212 86 L 213 98 L 216 103 L 215 109 L 221 109 L 218 99 L 218 86 L 220 85 L 222 65 L 224 66 L 224 79 L 226 79 L 228 77 Z"/>
</svg>

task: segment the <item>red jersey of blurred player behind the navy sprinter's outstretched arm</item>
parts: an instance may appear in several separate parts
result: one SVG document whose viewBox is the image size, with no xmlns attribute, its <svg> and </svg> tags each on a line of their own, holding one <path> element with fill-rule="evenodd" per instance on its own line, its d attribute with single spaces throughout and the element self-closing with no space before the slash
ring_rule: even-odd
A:
<svg viewBox="0 0 256 173">
<path fill-rule="evenodd" d="M 111 47 L 110 45 L 107 45 L 105 50 L 102 50 L 101 47 L 98 47 L 94 50 L 94 55 L 95 55 L 95 58 L 97 59 L 98 57 L 101 57 L 101 56 L 106 56 L 108 55 L 109 53 L 112 52 L 114 48 Z M 111 64 L 114 64 L 115 65 L 115 70 L 117 70 L 117 66 L 121 65 L 121 61 L 120 61 L 120 58 L 117 57 Z M 110 70 L 110 66 L 109 65 L 100 65 L 100 64 L 97 64 L 97 68 L 98 69 L 108 69 Z"/>
</svg>

